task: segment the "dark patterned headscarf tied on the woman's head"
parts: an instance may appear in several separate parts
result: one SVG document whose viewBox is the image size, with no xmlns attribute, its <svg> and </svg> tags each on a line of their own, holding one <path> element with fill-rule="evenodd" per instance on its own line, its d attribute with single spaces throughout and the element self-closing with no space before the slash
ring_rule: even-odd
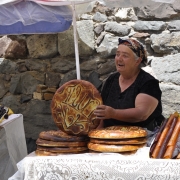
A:
<svg viewBox="0 0 180 180">
<path fill-rule="evenodd" d="M 119 44 L 123 44 L 128 46 L 138 57 L 142 58 L 142 63 L 146 63 L 147 62 L 147 52 L 144 49 L 143 45 L 135 40 L 135 39 L 121 39 L 119 38 Z"/>
</svg>

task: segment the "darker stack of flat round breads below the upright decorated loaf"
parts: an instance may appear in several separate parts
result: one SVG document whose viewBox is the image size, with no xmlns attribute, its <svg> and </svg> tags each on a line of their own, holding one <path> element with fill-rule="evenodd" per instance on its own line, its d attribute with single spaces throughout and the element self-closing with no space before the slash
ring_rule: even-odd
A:
<svg viewBox="0 0 180 180">
<path fill-rule="evenodd" d="M 86 152 L 88 138 L 87 136 L 73 136 L 64 133 L 61 130 L 43 131 L 36 140 L 38 156 L 56 156 L 66 153 Z"/>
</svg>

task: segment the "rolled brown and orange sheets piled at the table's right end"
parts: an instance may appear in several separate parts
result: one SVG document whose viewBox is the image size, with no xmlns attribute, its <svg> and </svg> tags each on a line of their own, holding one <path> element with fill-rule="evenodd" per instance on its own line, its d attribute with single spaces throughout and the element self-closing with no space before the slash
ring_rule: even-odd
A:
<svg viewBox="0 0 180 180">
<path fill-rule="evenodd" d="M 171 114 L 161 125 L 150 147 L 155 159 L 180 159 L 180 115 Z"/>
</svg>

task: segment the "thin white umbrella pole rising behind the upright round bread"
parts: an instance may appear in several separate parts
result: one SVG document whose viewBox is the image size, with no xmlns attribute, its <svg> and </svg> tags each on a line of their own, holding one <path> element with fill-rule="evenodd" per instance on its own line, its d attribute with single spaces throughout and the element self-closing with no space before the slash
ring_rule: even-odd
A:
<svg viewBox="0 0 180 180">
<path fill-rule="evenodd" d="M 76 59 L 76 74 L 77 74 L 77 79 L 81 79 L 80 78 L 79 49 L 78 49 L 78 38 L 77 38 L 75 3 L 73 3 L 73 32 L 74 32 L 74 48 L 75 48 L 75 59 Z"/>
</svg>

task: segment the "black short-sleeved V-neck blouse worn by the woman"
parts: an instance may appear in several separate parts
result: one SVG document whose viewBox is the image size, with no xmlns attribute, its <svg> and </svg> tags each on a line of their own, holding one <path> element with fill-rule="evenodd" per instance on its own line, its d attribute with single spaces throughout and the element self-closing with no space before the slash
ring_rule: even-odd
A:
<svg viewBox="0 0 180 180">
<path fill-rule="evenodd" d="M 143 122 L 128 123 L 115 119 L 106 119 L 104 120 L 104 127 L 114 125 L 134 125 L 145 127 L 153 131 L 155 127 L 159 126 L 164 120 L 161 105 L 162 92 L 159 87 L 159 81 L 141 69 L 134 83 L 121 93 L 119 76 L 120 73 L 116 72 L 110 75 L 106 80 L 101 92 L 103 104 L 115 109 L 134 108 L 136 96 L 139 93 L 145 93 L 156 98 L 158 100 L 158 106 L 148 119 Z"/>
</svg>

